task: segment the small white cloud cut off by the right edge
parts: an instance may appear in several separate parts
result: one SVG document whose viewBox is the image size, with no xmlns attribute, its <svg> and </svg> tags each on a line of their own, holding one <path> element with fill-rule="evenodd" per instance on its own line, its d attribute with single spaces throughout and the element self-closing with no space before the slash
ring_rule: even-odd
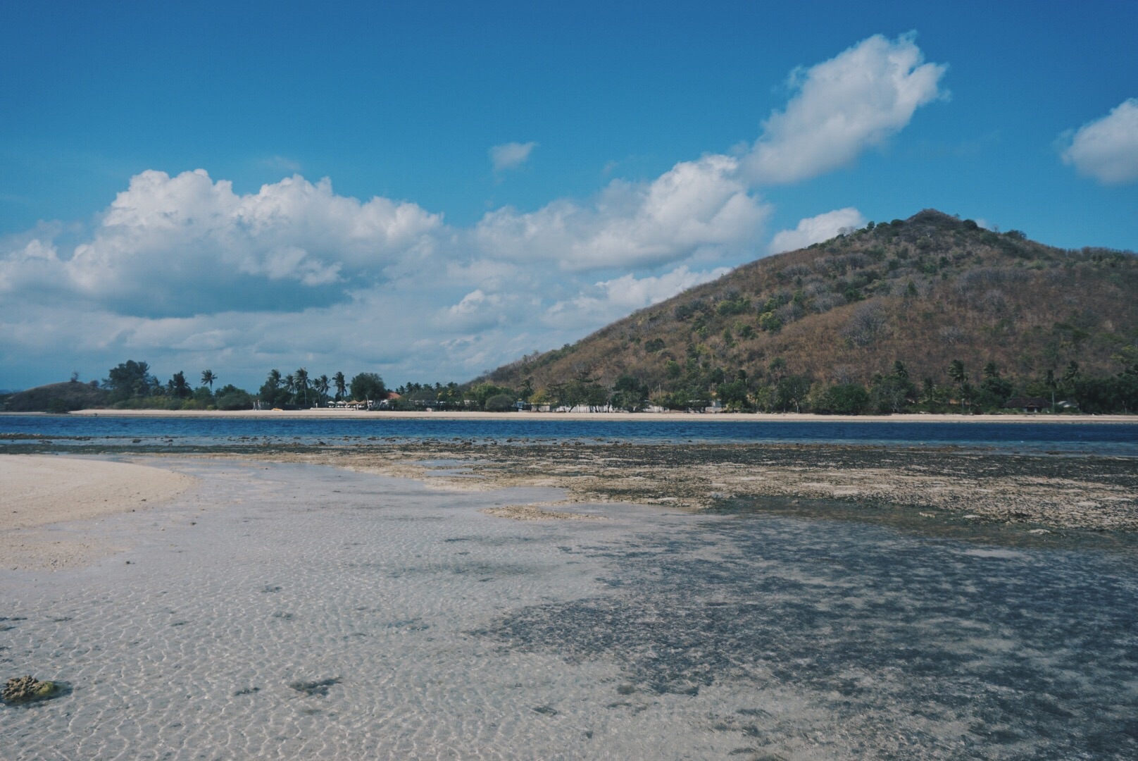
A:
<svg viewBox="0 0 1138 761">
<path fill-rule="evenodd" d="M 1138 180 L 1138 98 L 1123 100 L 1106 116 L 1080 126 L 1067 140 L 1063 162 L 1080 174 L 1105 185 Z"/>
</svg>

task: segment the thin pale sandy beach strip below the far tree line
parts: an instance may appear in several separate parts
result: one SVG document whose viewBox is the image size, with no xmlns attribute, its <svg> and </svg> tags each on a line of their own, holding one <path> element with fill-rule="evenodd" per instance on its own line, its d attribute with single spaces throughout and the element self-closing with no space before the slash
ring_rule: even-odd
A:
<svg viewBox="0 0 1138 761">
<path fill-rule="evenodd" d="M 0 412 L 0 416 L 48 412 Z M 685 423 L 1138 423 L 1138 415 L 816 415 L 813 412 L 368 412 L 362 410 L 115 410 L 88 409 L 79 417 L 168 417 L 249 419 L 402 419 L 402 420 L 620 420 Z"/>
</svg>

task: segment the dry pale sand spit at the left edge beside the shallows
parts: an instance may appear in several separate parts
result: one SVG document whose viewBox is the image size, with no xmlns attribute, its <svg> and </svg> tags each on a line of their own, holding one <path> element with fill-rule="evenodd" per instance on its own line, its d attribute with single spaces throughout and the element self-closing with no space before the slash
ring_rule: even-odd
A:
<svg viewBox="0 0 1138 761">
<path fill-rule="evenodd" d="M 155 507 L 193 482 L 191 476 L 143 465 L 0 456 L 0 558 L 9 568 L 85 565 L 115 550 L 93 535 L 91 522 Z"/>
</svg>

